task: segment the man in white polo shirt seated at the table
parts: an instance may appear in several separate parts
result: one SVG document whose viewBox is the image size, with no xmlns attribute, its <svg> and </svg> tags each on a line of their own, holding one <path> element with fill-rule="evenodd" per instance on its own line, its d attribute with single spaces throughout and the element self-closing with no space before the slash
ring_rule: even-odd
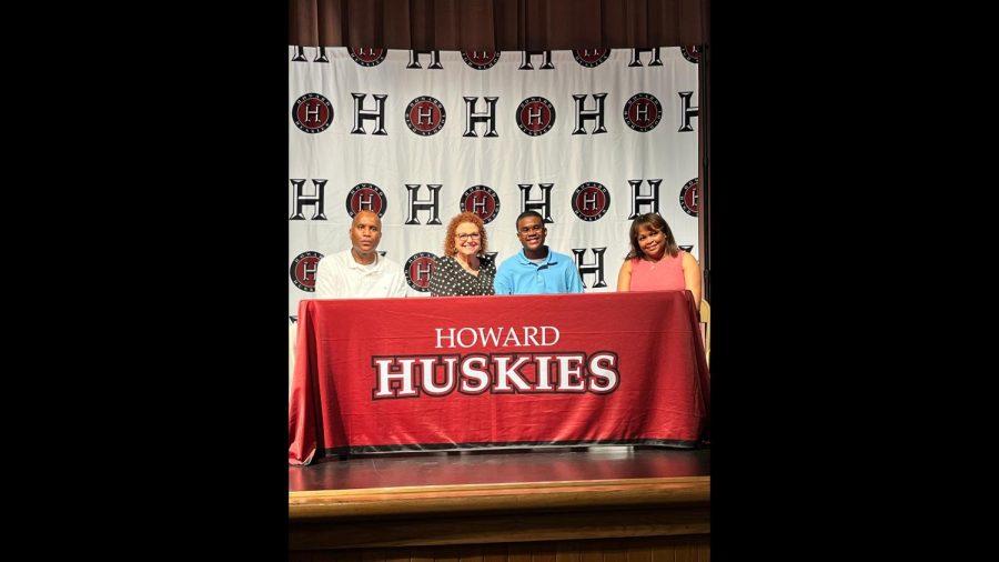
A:
<svg viewBox="0 0 999 562">
<path fill-rule="evenodd" d="M 326 255 L 315 272 L 316 299 L 405 297 L 406 279 L 398 263 L 379 255 L 382 220 L 361 211 L 351 222 L 351 249 Z"/>
</svg>

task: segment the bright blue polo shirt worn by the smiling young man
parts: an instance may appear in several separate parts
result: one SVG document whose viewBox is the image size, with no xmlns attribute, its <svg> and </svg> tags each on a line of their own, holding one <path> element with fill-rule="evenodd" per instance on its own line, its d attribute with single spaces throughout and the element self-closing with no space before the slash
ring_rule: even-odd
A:
<svg viewBox="0 0 999 562">
<path fill-rule="evenodd" d="M 496 294 L 582 293 L 583 280 L 568 255 L 548 248 L 548 257 L 536 265 L 522 248 L 500 264 L 493 288 Z"/>
</svg>

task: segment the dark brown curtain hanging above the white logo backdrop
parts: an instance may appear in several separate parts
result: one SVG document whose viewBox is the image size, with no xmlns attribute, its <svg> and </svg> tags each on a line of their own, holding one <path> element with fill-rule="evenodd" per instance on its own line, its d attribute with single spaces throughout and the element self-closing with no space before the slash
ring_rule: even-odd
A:
<svg viewBox="0 0 999 562">
<path fill-rule="evenodd" d="M 290 0 L 289 44 L 416 50 L 705 42 L 706 0 Z"/>
</svg>

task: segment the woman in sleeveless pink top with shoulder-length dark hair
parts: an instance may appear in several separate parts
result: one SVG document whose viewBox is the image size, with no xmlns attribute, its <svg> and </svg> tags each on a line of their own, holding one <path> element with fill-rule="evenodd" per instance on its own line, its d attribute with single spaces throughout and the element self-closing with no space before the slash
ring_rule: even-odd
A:
<svg viewBox="0 0 999 562">
<path fill-rule="evenodd" d="M 683 291 L 694 294 L 700 310 L 700 268 L 697 260 L 676 245 L 669 225 L 656 213 L 632 221 L 632 251 L 617 274 L 617 290 Z"/>
</svg>

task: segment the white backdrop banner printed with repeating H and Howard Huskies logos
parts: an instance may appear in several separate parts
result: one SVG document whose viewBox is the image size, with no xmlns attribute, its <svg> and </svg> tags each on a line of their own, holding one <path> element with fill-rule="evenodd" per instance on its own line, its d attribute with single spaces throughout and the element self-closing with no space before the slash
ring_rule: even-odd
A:
<svg viewBox="0 0 999 562">
<path fill-rule="evenodd" d="M 483 218 L 496 263 L 538 211 L 586 292 L 613 291 L 628 225 L 697 248 L 697 60 L 686 48 L 416 52 L 289 47 L 289 315 L 316 263 L 382 217 L 380 251 L 428 295 L 448 220 Z"/>
</svg>

